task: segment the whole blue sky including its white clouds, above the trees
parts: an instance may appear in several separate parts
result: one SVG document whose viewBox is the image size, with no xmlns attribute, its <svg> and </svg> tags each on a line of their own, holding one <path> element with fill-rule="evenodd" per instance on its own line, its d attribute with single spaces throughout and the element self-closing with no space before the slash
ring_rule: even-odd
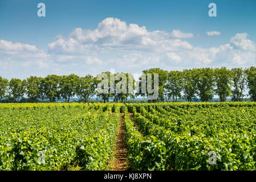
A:
<svg viewBox="0 0 256 182">
<path fill-rule="evenodd" d="M 46 17 L 37 16 L 40 2 Z M 217 17 L 208 16 L 211 2 Z M 254 0 L 0 0 L 0 75 L 248 67 L 255 32 Z"/>
</svg>

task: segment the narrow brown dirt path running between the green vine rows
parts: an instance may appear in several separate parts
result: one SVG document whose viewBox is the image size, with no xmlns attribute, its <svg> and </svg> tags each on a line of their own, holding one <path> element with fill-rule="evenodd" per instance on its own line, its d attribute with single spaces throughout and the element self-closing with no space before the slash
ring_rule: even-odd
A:
<svg viewBox="0 0 256 182">
<path fill-rule="evenodd" d="M 115 160 L 113 163 L 114 171 L 127 171 L 128 168 L 128 150 L 125 142 L 125 130 L 124 130 L 124 114 L 121 113 L 120 123 L 118 126 L 118 134 L 115 146 Z"/>
</svg>

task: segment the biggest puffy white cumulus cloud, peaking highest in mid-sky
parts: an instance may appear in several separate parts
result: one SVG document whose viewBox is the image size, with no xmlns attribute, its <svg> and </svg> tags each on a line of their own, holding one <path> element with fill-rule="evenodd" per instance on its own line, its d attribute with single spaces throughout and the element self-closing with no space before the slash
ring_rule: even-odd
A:
<svg viewBox="0 0 256 182">
<path fill-rule="evenodd" d="M 70 50 L 76 43 L 105 47 L 145 47 L 158 46 L 164 40 L 193 38 L 193 36 L 192 33 L 184 33 L 180 30 L 173 30 L 170 33 L 159 30 L 149 32 L 145 26 L 127 24 L 117 18 L 106 18 L 98 24 L 95 30 L 75 28 L 70 33 L 70 38 L 66 40 L 60 38 L 48 44 L 48 47 L 51 50 L 56 48 Z"/>
</svg>

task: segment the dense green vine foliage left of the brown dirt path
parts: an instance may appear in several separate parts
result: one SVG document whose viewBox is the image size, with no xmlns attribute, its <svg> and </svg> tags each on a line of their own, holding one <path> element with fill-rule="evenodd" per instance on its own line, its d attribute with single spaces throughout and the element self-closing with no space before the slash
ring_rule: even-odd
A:
<svg viewBox="0 0 256 182">
<path fill-rule="evenodd" d="M 104 170 L 120 107 L 105 104 L 0 106 L 0 170 Z"/>
</svg>

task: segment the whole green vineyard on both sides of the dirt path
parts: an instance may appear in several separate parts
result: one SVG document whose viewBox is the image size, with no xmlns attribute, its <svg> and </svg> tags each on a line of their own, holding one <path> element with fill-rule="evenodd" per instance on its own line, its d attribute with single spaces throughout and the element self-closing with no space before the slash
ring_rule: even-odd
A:
<svg viewBox="0 0 256 182">
<path fill-rule="evenodd" d="M 220 102 L 1 104 L 0 170 L 111 170 L 120 121 L 127 169 L 256 169 L 256 104 Z"/>
</svg>

